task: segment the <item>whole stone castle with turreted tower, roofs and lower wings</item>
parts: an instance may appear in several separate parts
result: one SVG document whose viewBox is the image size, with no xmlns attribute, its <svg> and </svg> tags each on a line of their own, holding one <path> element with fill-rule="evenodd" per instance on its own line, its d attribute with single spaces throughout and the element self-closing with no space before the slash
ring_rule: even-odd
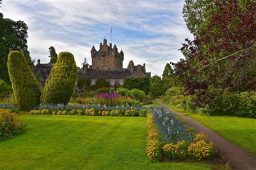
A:
<svg viewBox="0 0 256 170">
<path fill-rule="evenodd" d="M 92 66 L 85 64 L 78 69 L 78 78 L 90 79 L 91 85 L 95 85 L 97 79 L 104 78 L 111 85 L 111 92 L 116 84 L 123 85 L 125 78 L 141 78 L 150 77 L 151 73 L 146 72 L 145 64 L 134 66 L 132 60 L 129 62 L 129 68 L 123 68 L 124 52 L 118 52 L 116 45 L 112 47 L 112 43 L 107 44 L 104 38 L 103 45 L 100 43 L 99 50 L 92 46 L 91 50 Z M 31 65 L 31 70 L 39 81 L 40 87 L 44 87 L 45 80 L 51 72 L 53 64 L 41 64 L 38 60 L 36 66 Z M 76 87 L 75 92 L 79 93 Z"/>
</svg>

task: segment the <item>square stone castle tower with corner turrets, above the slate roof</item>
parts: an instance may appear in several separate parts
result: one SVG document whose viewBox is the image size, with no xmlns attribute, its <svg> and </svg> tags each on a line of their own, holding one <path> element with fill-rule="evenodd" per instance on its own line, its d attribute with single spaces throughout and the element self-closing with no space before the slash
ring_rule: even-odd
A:
<svg viewBox="0 0 256 170">
<path fill-rule="evenodd" d="M 107 45 L 107 39 L 100 43 L 99 51 L 92 46 L 92 69 L 123 69 L 124 52 L 118 52 L 116 45 L 112 48 L 112 43 Z"/>
</svg>

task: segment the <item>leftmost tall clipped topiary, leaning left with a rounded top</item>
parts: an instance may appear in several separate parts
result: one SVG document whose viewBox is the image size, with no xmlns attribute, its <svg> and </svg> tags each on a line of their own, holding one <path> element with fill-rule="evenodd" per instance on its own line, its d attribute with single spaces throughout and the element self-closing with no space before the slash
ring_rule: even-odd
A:
<svg viewBox="0 0 256 170">
<path fill-rule="evenodd" d="M 29 110 L 38 105 L 41 90 L 21 52 L 12 51 L 9 53 L 8 72 L 15 100 L 20 110 Z"/>
</svg>

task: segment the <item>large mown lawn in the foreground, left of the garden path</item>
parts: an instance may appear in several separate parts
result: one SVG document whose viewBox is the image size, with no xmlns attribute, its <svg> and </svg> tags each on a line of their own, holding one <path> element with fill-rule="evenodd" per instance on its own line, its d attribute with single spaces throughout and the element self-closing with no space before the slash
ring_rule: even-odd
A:
<svg viewBox="0 0 256 170">
<path fill-rule="evenodd" d="M 150 162 L 147 118 L 22 115 L 26 131 L 0 142 L 0 169 L 209 169 Z"/>
</svg>

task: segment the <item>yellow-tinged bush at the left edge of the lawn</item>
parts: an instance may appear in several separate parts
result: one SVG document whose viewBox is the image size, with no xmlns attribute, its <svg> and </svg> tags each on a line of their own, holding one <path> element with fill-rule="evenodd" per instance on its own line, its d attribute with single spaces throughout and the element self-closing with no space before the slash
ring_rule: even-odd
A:
<svg viewBox="0 0 256 170">
<path fill-rule="evenodd" d="M 0 141 L 24 131 L 25 125 L 11 110 L 0 109 Z"/>
</svg>

